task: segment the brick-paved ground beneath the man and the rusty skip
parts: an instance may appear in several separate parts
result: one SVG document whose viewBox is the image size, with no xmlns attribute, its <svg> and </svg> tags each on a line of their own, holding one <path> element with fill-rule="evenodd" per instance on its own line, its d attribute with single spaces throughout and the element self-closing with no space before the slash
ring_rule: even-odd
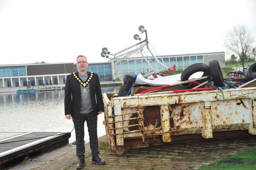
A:
<svg viewBox="0 0 256 170">
<path fill-rule="evenodd" d="M 105 160 L 106 164 L 92 164 L 90 162 L 92 157 L 87 153 L 85 158 L 86 166 L 83 169 L 193 170 L 255 146 L 256 136 L 128 149 L 121 156 L 118 156 L 109 150 L 106 135 L 99 138 L 99 145 L 100 148 L 102 148 L 100 150 L 100 158 Z M 86 144 L 86 148 L 88 151 L 88 143 Z M 40 159 L 38 158 L 37 161 L 40 161 Z M 27 163 L 29 164 L 29 162 Z M 74 170 L 76 169 L 76 163 L 77 157 L 75 156 L 74 149 L 53 160 L 41 164 L 32 170 Z M 13 169 L 21 169 L 20 167 L 21 166 L 16 166 Z"/>
</svg>

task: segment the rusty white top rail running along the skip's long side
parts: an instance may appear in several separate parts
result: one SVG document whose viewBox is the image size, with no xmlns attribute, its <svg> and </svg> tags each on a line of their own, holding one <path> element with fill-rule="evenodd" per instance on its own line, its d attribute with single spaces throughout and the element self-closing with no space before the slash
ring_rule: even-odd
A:
<svg viewBox="0 0 256 170">
<path fill-rule="evenodd" d="M 224 94 L 224 99 L 223 99 Z M 134 106 L 170 105 L 195 102 L 223 101 L 232 99 L 255 98 L 255 87 L 211 91 L 193 91 L 173 94 L 148 94 L 141 96 L 128 96 L 113 98 L 120 100 L 122 108 Z"/>
</svg>

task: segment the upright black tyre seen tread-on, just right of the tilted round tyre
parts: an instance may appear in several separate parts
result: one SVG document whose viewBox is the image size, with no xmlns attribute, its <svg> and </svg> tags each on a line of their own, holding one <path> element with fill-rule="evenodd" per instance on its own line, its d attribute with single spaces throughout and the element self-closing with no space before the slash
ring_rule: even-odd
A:
<svg viewBox="0 0 256 170">
<path fill-rule="evenodd" d="M 211 78 L 213 79 L 214 86 L 223 87 L 225 86 L 224 77 L 220 68 L 220 64 L 217 59 L 211 59 L 209 61 L 209 69 Z"/>
</svg>

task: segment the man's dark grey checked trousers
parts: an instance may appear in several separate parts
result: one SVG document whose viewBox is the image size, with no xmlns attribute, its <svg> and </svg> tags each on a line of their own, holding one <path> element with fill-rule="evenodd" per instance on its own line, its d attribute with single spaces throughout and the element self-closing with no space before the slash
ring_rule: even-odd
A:
<svg viewBox="0 0 256 170">
<path fill-rule="evenodd" d="M 75 139 L 77 142 L 77 156 L 78 159 L 85 158 L 85 121 L 88 127 L 89 139 L 90 139 L 90 149 L 92 151 L 92 157 L 98 156 L 99 146 L 98 146 L 98 136 L 97 136 L 97 116 L 95 113 L 90 112 L 86 114 L 79 114 L 79 117 L 73 120 L 75 126 Z"/>
</svg>

